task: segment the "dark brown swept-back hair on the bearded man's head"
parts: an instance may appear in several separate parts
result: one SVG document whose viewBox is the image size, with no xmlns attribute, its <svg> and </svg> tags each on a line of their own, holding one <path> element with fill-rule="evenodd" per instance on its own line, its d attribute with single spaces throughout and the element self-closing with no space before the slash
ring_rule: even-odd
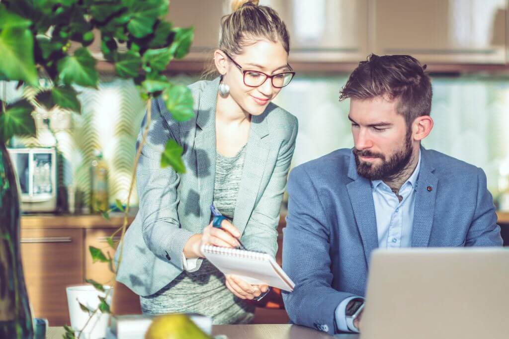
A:
<svg viewBox="0 0 509 339">
<path fill-rule="evenodd" d="M 415 118 L 429 116 L 431 111 L 431 79 L 410 55 L 371 54 L 350 74 L 340 92 L 340 101 L 347 98 L 398 99 L 398 113 L 405 117 L 407 128 Z"/>
</svg>

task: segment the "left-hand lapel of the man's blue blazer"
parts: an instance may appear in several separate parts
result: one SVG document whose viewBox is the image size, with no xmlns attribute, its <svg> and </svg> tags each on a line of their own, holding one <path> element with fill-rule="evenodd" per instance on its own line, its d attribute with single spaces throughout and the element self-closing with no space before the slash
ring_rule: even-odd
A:
<svg viewBox="0 0 509 339">
<path fill-rule="evenodd" d="M 347 184 L 348 195 L 352 203 L 355 222 L 359 229 L 366 263 L 370 264 L 371 252 L 378 247 L 377 221 L 371 182 L 357 175 L 357 165 L 353 154 L 350 155 L 348 177 L 353 181 Z"/>
</svg>

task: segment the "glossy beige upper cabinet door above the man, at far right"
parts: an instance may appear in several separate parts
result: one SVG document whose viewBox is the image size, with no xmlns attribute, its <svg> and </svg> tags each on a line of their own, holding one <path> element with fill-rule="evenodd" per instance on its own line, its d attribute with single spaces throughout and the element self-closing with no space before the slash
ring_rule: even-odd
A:
<svg viewBox="0 0 509 339">
<path fill-rule="evenodd" d="M 372 0 L 377 54 L 425 63 L 505 63 L 505 0 Z"/>
</svg>

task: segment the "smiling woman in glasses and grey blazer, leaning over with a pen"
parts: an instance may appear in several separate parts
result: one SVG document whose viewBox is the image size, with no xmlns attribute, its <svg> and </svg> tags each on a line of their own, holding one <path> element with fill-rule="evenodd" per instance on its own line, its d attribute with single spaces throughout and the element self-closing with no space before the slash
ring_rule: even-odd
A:
<svg viewBox="0 0 509 339">
<path fill-rule="evenodd" d="M 139 212 L 124 238 L 117 280 L 140 295 L 145 314 L 201 313 L 214 324 L 248 323 L 267 285 L 225 277 L 202 244 L 275 256 L 279 207 L 297 119 L 271 103 L 295 74 L 285 24 L 258 1 L 235 1 L 223 17 L 214 64 L 220 77 L 190 86 L 195 119 L 177 122 L 162 100 L 137 168 Z M 143 128 L 142 128 L 143 129 Z M 160 168 L 168 138 L 184 148 L 187 172 Z M 213 228 L 210 207 L 228 219 Z M 231 220 L 231 221 L 230 221 Z"/>
</svg>

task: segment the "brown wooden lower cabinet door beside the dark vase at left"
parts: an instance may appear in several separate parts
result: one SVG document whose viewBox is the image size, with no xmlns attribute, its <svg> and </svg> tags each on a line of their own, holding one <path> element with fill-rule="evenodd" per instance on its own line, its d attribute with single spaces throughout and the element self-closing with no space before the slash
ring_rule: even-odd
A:
<svg viewBox="0 0 509 339">
<path fill-rule="evenodd" d="M 83 283 L 83 231 L 21 230 L 21 258 L 34 316 L 70 324 L 66 287 Z"/>
</svg>

